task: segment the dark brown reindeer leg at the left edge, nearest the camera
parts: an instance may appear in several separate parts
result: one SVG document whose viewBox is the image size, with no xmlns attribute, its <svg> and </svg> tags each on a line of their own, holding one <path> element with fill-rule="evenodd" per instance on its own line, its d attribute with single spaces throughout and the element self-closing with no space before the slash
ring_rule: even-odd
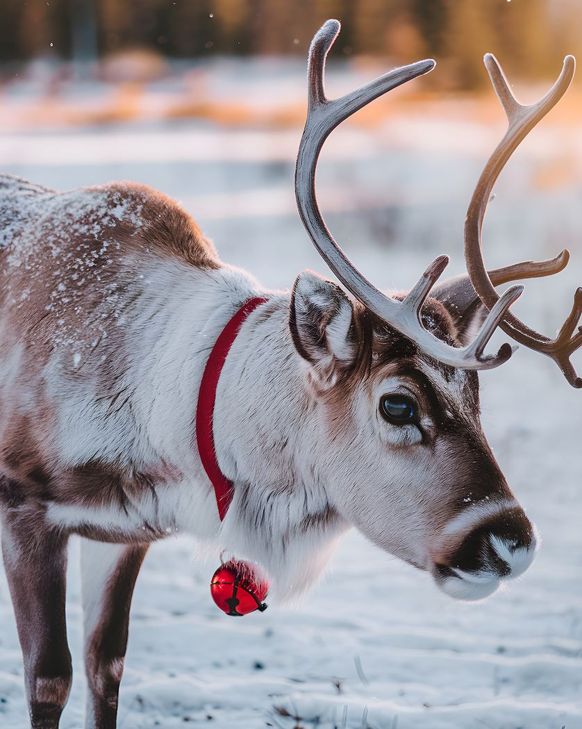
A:
<svg viewBox="0 0 582 729">
<path fill-rule="evenodd" d="M 36 512 L 1 510 L 2 554 L 23 651 L 32 729 L 58 729 L 71 690 L 65 623 L 68 534 Z"/>
</svg>

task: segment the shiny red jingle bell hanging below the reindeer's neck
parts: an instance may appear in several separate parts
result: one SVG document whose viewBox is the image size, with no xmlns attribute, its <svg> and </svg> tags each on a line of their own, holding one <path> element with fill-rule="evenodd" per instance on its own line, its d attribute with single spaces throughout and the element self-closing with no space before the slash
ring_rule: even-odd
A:
<svg viewBox="0 0 582 729">
<path fill-rule="evenodd" d="M 263 600 L 267 597 L 269 583 L 256 576 L 248 562 L 231 559 L 213 574 L 212 599 L 227 615 L 248 615 L 254 610 L 267 609 Z"/>
</svg>

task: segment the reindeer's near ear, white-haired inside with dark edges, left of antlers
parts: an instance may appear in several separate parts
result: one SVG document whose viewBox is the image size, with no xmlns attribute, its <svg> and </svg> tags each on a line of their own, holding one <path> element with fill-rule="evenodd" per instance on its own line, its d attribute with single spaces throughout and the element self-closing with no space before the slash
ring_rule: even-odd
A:
<svg viewBox="0 0 582 729">
<path fill-rule="evenodd" d="M 291 292 L 291 338 L 322 384 L 331 385 L 357 350 L 353 307 L 342 289 L 317 273 L 303 271 Z"/>
</svg>

